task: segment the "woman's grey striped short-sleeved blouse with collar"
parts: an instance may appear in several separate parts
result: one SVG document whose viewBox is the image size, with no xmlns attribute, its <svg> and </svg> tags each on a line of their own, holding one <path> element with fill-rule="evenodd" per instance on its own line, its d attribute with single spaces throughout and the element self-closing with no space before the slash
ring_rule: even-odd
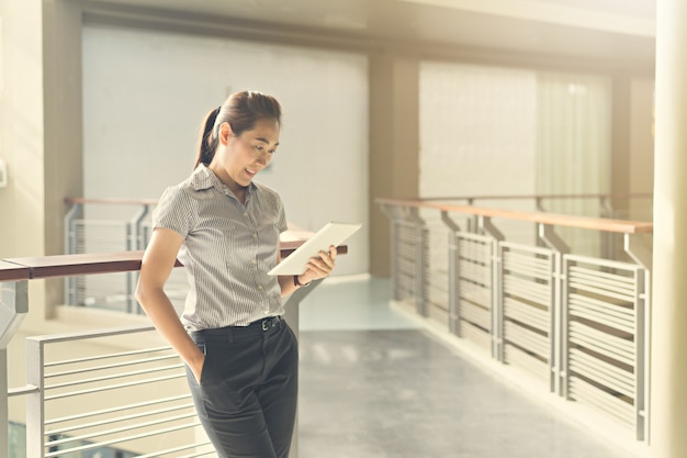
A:
<svg viewBox="0 0 687 458">
<path fill-rule="evenodd" d="M 181 315 L 188 331 L 246 326 L 284 313 L 277 277 L 267 275 L 286 231 L 284 206 L 272 189 L 251 182 L 243 204 L 201 164 L 165 190 L 153 226 L 184 238 L 178 257 L 190 286 Z"/>
</svg>

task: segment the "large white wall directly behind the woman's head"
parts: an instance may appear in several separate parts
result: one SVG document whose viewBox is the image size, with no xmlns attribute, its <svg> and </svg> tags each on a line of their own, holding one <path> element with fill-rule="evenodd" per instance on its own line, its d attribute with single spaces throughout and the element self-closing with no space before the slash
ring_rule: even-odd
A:
<svg viewBox="0 0 687 458">
<path fill-rule="evenodd" d="M 158 198 L 191 172 L 204 115 L 244 89 L 282 104 L 281 145 L 257 181 L 288 219 L 367 224 L 367 57 L 129 29 L 83 29 L 86 197 Z M 367 231 L 348 245 L 337 275 L 367 272 Z"/>
</svg>

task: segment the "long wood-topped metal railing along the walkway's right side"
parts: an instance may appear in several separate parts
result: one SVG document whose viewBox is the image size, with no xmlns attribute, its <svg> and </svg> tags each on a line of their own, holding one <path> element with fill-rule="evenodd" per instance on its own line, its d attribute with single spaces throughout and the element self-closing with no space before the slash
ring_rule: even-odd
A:
<svg viewBox="0 0 687 458">
<path fill-rule="evenodd" d="M 637 440 L 649 432 L 651 256 L 643 222 L 380 199 L 394 300 L 485 358 L 584 404 Z M 527 223 L 531 244 L 494 223 Z M 630 261 L 570 253 L 554 227 L 619 234 Z"/>
</svg>

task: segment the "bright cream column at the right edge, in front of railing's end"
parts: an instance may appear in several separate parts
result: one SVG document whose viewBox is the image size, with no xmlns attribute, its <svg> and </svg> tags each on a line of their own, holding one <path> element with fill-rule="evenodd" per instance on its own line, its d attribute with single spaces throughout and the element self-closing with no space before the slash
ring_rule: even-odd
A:
<svg viewBox="0 0 687 458">
<path fill-rule="evenodd" d="M 687 457 L 687 2 L 658 0 L 652 457 Z"/>
</svg>

